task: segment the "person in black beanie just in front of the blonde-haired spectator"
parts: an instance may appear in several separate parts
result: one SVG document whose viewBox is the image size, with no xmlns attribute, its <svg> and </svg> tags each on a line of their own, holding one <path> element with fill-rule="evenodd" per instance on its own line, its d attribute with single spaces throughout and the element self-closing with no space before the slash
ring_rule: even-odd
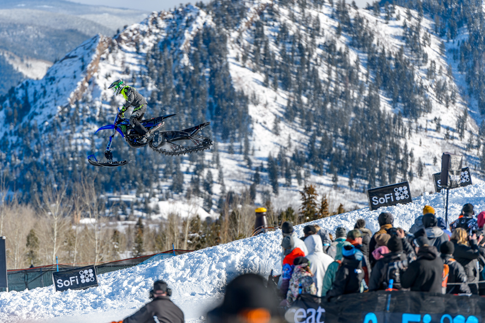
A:
<svg viewBox="0 0 485 323">
<path fill-rule="evenodd" d="M 467 284 L 467 275 L 465 274 L 465 269 L 463 266 L 453 259 L 454 244 L 451 241 L 446 241 L 441 243 L 439 247 L 441 252 L 441 258 L 444 264 L 448 265 L 448 283 L 462 283 L 461 285 L 447 285 L 445 288 L 445 294 L 461 294 L 461 293 L 471 293 L 470 288 Z"/>
</svg>

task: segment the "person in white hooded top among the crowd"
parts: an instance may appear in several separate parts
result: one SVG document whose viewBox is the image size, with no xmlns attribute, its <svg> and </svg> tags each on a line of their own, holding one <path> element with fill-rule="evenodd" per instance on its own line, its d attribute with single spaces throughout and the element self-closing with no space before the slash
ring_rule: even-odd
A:
<svg viewBox="0 0 485 323">
<path fill-rule="evenodd" d="M 313 281 L 317 288 L 317 296 L 322 296 L 323 277 L 328 265 L 333 262 L 333 258 L 323 252 L 322 239 L 318 234 L 312 234 L 305 239 L 307 245 L 308 255 L 307 259 L 310 261 L 310 270 L 313 274 Z"/>
</svg>

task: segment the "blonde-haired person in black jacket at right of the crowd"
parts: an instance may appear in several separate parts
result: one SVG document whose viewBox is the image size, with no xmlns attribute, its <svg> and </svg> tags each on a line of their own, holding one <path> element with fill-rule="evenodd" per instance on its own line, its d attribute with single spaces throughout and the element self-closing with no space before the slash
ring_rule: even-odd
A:
<svg viewBox="0 0 485 323">
<path fill-rule="evenodd" d="M 480 264 L 478 258 L 480 251 L 476 234 L 469 236 L 461 227 L 453 230 L 451 242 L 454 244 L 453 258 L 465 269 L 468 286 L 473 294 L 478 294 Z"/>
</svg>

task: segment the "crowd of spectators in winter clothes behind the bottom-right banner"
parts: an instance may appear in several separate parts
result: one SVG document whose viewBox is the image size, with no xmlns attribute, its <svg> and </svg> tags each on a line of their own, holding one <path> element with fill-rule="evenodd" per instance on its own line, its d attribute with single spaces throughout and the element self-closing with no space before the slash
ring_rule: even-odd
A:
<svg viewBox="0 0 485 323">
<path fill-rule="evenodd" d="M 465 204 L 447 230 L 435 210 L 425 206 L 405 231 L 383 212 L 377 232 L 372 234 L 365 220 L 358 219 L 350 231 L 338 227 L 334 238 L 314 225 L 297 237 L 285 222 L 280 306 L 291 306 L 299 293 L 327 300 L 378 290 L 485 295 L 485 212 L 474 215 L 473 205 Z"/>
</svg>

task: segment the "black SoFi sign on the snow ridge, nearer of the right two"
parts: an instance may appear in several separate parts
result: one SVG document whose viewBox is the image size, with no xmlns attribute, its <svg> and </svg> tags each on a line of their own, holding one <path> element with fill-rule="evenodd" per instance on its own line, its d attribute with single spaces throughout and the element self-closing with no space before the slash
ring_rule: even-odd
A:
<svg viewBox="0 0 485 323">
<path fill-rule="evenodd" d="M 411 203 L 411 190 L 408 182 L 392 184 L 367 190 L 369 208 L 377 210 L 382 206 Z"/>
</svg>

